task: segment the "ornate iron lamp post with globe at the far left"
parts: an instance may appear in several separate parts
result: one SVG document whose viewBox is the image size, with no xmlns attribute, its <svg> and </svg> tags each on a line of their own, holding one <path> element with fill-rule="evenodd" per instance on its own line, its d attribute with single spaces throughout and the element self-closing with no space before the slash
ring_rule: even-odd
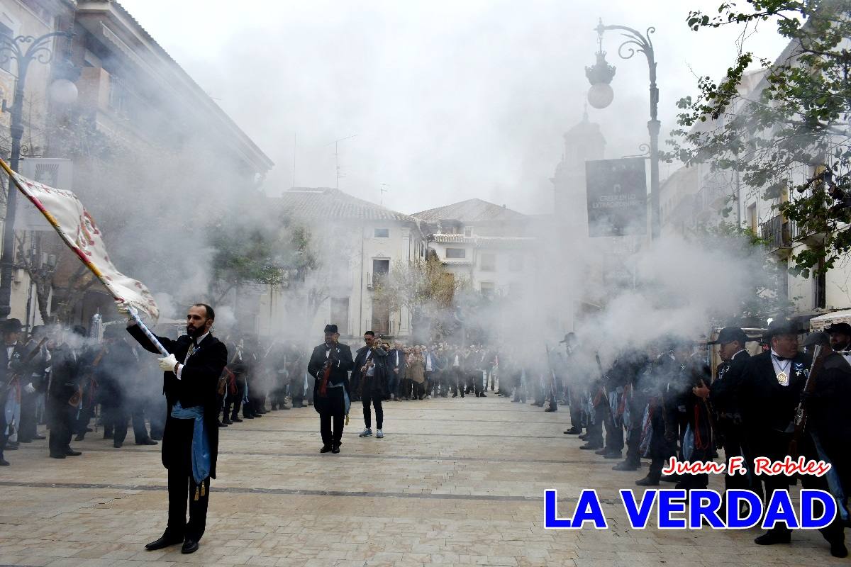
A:
<svg viewBox="0 0 851 567">
<path fill-rule="evenodd" d="M 11 106 L 3 100 L 3 111 L 9 111 L 9 122 L 12 147 L 9 156 L 9 167 L 18 171 L 20 163 L 20 140 L 24 137 L 24 87 L 26 73 L 30 63 L 37 61 L 48 65 L 53 59 L 53 49 L 49 43 L 54 37 L 71 38 L 67 31 L 52 31 L 41 37 L 18 36 L 0 37 L 0 63 L 14 60 L 18 77 L 14 86 L 14 101 Z M 70 87 L 69 87 L 70 85 Z M 76 87 L 65 78 L 60 78 L 50 86 L 51 94 L 60 102 L 72 102 L 71 95 L 76 99 Z M 3 222 L 3 252 L 0 255 L 0 319 L 9 317 L 12 310 L 12 269 L 14 268 L 14 212 L 18 191 L 14 182 L 9 179 L 6 191 L 6 218 Z"/>
</svg>

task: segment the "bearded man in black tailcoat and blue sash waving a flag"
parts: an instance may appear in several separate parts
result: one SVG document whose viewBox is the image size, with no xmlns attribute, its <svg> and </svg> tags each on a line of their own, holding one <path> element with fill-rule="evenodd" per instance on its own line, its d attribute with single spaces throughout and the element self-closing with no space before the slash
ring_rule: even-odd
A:
<svg viewBox="0 0 851 567">
<path fill-rule="evenodd" d="M 119 312 L 129 313 L 126 303 Z M 207 524 L 210 479 L 215 478 L 219 452 L 217 387 L 227 364 L 225 343 L 214 337 L 215 313 L 205 303 L 189 308 L 186 335 L 176 341 L 157 337 L 168 351 L 159 359 L 163 394 L 168 403 L 163 432 L 163 466 L 168 469 L 168 527 L 145 547 L 149 551 L 183 543 L 182 553 L 194 553 Z M 159 353 L 133 319 L 127 331 L 152 353 Z M 189 501 L 189 522 L 186 502 Z"/>
</svg>

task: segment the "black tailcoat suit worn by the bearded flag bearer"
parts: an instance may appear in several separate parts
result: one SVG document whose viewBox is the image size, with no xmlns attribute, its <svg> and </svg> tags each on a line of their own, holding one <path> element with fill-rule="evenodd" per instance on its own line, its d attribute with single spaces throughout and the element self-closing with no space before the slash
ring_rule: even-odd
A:
<svg viewBox="0 0 851 567">
<path fill-rule="evenodd" d="M 159 354 L 139 326 L 128 327 L 128 332 L 142 348 Z M 208 334 L 197 345 L 189 359 L 186 354 L 193 346 L 192 339 L 186 335 L 176 341 L 157 337 L 157 340 L 174 354 L 180 364 L 186 363 L 180 371 L 180 379 L 172 371 L 163 372 L 163 393 L 168 403 L 168 414 L 163 432 L 163 466 L 168 469 L 168 528 L 166 535 L 172 539 L 185 537 L 198 541 L 203 536 L 207 524 L 207 502 L 210 479 L 215 478 L 216 457 L 219 453 L 219 398 L 216 392 L 219 377 L 227 364 L 227 348 L 224 343 Z M 184 408 L 203 407 L 204 430 L 207 434 L 210 450 L 209 478 L 203 480 L 203 487 L 192 478 L 192 433 L 194 420 L 176 419 L 171 411 L 176 402 Z M 187 480 L 188 479 L 188 480 Z M 198 499 L 194 496 L 201 492 Z M 189 498 L 189 523 L 186 523 L 186 502 Z"/>
</svg>

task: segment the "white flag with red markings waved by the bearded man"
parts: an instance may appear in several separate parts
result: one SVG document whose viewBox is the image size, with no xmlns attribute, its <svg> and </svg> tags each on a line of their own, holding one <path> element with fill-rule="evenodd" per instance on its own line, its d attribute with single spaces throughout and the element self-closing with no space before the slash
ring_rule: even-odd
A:
<svg viewBox="0 0 851 567">
<path fill-rule="evenodd" d="M 77 196 L 71 191 L 54 189 L 14 173 L 2 160 L 0 165 L 12 176 L 20 192 L 43 214 L 66 245 L 77 254 L 77 258 L 103 282 L 112 297 L 126 300 L 140 313 L 146 315 L 151 326 L 155 325 L 159 318 L 159 309 L 151 292 L 140 281 L 123 275 L 112 264 L 106 253 L 103 234 Z M 26 203 L 20 205 L 20 207 L 26 206 Z"/>
</svg>

